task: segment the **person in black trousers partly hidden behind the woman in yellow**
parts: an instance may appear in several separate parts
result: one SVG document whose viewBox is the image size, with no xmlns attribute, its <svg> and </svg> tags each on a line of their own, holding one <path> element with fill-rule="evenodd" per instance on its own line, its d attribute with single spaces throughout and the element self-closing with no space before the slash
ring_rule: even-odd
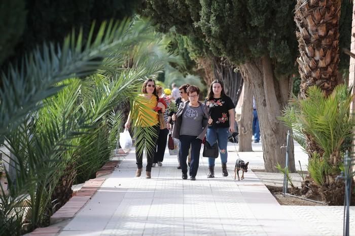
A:
<svg viewBox="0 0 355 236">
<path fill-rule="evenodd" d="M 159 85 L 157 85 L 155 88 L 157 90 L 158 97 L 164 99 L 166 105 L 169 106 L 170 99 L 165 94 L 163 94 L 163 88 Z M 169 129 L 170 129 L 170 125 L 168 125 L 169 123 L 167 122 L 168 109 L 165 109 L 164 119 L 165 119 L 165 122 L 167 123 L 166 124 L 167 128 L 160 129 L 160 131 L 159 131 L 159 136 L 158 136 L 158 141 L 157 141 L 157 150 L 156 150 L 156 153 L 153 158 L 153 165 L 152 165 L 153 167 L 155 167 L 156 165 L 163 166 L 162 162 L 164 160 L 166 142 L 167 142 L 167 137 L 168 137 L 168 133 L 169 133 Z"/>
</svg>

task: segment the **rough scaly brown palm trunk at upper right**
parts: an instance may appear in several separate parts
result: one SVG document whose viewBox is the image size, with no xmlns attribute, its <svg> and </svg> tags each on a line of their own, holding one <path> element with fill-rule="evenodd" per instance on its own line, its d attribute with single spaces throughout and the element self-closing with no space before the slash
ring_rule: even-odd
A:
<svg viewBox="0 0 355 236">
<path fill-rule="evenodd" d="M 300 57 L 300 97 L 317 85 L 330 95 L 337 85 L 340 0 L 297 0 L 295 22 Z"/>
</svg>

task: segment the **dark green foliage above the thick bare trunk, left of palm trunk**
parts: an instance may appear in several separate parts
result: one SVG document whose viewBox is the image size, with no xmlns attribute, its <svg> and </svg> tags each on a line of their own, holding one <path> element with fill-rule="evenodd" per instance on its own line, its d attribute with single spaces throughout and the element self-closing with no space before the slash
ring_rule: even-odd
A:
<svg viewBox="0 0 355 236">
<path fill-rule="evenodd" d="M 234 64 L 269 56 L 276 74 L 295 71 L 295 1 L 200 1 L 198 26 L 216 56 Z"/>
</svg>

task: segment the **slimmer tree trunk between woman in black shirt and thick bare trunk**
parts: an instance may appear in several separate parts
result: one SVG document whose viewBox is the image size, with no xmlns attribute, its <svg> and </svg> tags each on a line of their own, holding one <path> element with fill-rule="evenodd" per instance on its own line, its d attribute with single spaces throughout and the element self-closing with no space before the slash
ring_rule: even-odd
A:
<svg viewBox="0 0 355 236">
<path fill-rule="evenodd" d="M 244 76 L 243 76 L 244 77 Z M 253 90 L 248 80 L 244 85 L 238 104 L 241 103 L 241 114 L 238 116 L 239 152 L 252 152 Z"/>
</svg>

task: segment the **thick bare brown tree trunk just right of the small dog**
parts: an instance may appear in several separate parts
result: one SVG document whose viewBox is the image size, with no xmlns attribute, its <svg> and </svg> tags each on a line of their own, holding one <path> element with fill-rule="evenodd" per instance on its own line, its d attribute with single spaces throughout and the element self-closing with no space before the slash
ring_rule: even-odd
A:
<svg viewBox="0 0 355 236">
<path fill-rule="evenodd" d="M 277 117 L 287 105 L 292 91 L 292 79 L 276 78 L 268 56 L 248 61 L 240 65 L 240 69 L 245 74 L 244 79 L 252 85 L 257 105 L 265 171 L 278 172 L 275 168 L 277 163 L 285 166 L 286 149 L 281 147 L 286 145 L 288 128 Z M 289 150 L 289 170 L 295 172 L 292 138 Z"/>
</svg>

